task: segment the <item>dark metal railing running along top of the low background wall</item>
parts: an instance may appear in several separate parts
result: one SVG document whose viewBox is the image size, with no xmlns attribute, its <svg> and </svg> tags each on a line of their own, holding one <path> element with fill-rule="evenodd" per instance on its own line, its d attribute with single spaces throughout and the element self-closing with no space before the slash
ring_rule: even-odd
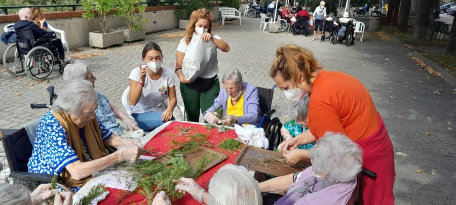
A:
<svg viewBox="0 0 456 205">
<path fill-rule="evenodd" d="M 209 0 L 212 4 L 222 3 L 221 0 Z M 141 2 L 140 4 L 146 5 L 147 7 L 160 7 L 160 6 L 178 6 L 185 4 L 186 1 L 169 1 L 169 2 Z M 30 5 L 30 6 L 6 6 L 0 7 L 4 15 L 8 15 L 8 9 L 22 9 L 29 7 L 40 7 L 40 8 L 71 8 L 72 11 L 77 11 L 77 7 L 82 7 L 80 4 L 67 4 L 67 5 Z"/>
</svg>

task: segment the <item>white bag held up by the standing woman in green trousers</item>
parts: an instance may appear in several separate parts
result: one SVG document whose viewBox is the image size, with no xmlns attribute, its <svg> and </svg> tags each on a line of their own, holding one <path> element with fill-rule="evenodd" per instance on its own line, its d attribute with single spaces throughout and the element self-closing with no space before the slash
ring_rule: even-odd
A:
<svg viewBox="0 0 456 205">
<path fill-rule="evenodd" d="M 182 62 L 185 78 L 196 79 L 201 73 L 205 73 L 205 69 L 212 68 L 214 63 L 217 66 L 215 44 L 212 40 L 204 42 L 200 35 L 194 33 Z"/>
</svg>

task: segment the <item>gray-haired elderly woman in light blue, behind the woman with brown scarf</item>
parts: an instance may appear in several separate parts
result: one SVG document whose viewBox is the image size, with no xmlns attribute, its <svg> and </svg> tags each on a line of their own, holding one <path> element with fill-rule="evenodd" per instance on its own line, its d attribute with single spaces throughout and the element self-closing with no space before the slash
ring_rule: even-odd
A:
<svg viewBox="0 0 456 205">
<path fill-rule="evenodd" d="M 75 81 L 75 80 L 88 80 L 95 87 L 95 80 L 97 78 L 93 75 L 92 71 L 89 70 L 87 64 L 81 60 L 76 60 L 72 64 L 68 64 L 65 67 L 65 72 L 63 73 L 63 80 L 66 82 Z M 101 123 L 113 133 L 116 133 L 122 137 L 128 137 L 128 131 L 120 125 L 116 118 L 122 119 L 125 123 L 125 127 L 131 131 L 140 130 L 138 123 L 132 116 L 128 116 L 122 110 L 120 110 L 115 105 L 109 103 L 109 100 L 101 92 L 97 92 L 98 96 L 98 108 L 95 111 L 97 118 Z"/>
</svg>

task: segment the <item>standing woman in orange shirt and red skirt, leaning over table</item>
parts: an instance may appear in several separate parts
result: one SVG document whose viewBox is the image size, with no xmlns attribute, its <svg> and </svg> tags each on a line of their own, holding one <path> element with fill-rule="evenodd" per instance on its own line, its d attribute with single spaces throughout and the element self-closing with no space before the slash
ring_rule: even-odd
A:
<svg viewBox="0 0 456 205">
<path fill-rule="evenodd" d="M 376 179 L 362 176 L 362 204 L 394 204 L 393 145 L 385 124 L 367 89 L 355 77 L 325 70 L 307 49 L 285 45 L 276 51 L 270 76 L 288 100 L 310 96 L 309 130 L 280 145 L 292 163 L 310 158 L 307 150 L 295 149 L 324 136 L 326 132 L 346 134 L 363 150 L 363 167 Z"/>
</svg>

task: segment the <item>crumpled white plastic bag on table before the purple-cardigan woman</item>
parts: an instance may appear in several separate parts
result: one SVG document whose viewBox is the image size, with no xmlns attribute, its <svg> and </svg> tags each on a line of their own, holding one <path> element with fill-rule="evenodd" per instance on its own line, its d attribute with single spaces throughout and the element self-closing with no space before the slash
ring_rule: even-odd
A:
<svg viewBox="0 0 456 205">
<path fill-rule="evenodd" d="M 269 148 L 269 141 L 264 136 L 264 130 L 262 128 L 255 128 L 253 125 L 235 125 L 235 132 L 238 134 L 240 140 L 244 141 L 246 145 L 253 145 L 264 149 Z"/>
</svg>

